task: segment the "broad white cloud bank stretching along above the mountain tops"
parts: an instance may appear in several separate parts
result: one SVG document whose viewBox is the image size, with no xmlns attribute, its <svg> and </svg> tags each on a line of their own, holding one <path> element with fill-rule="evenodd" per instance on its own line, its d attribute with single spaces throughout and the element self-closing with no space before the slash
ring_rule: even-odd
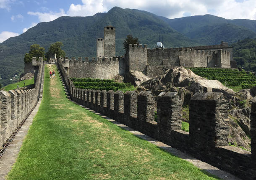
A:
<svg viewBox="0 0 256 180">
<path fill-rule="evenodd" d="M 146 10 L 167 18 L 180 18 L 184 14 L 212 14 L 227 19 L 245 18 L 256 20 L 255 0 L 81 0 L 81 4 L 75 5 L 72 3 L 67 13 L 63 9 L 60 9 L 59 12 L 28 12 L 28 14 L 38 16 L 40 22 L 47 22 L 63 15 L 88 16 L 103 13 L 114 6 Z M 44 9 L 43 11 L 46 10 Z"/>
</svg>

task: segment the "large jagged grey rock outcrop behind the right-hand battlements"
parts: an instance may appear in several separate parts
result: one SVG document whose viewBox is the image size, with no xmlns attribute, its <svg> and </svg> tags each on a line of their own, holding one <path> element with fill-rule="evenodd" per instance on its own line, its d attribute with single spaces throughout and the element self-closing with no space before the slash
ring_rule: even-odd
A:
<svg viewBox="0 0 256 180">
<path fill-rule="evenodd" d="M 230 108 L 228 141 L 231 145 L 251 149 L 250 101 L 256 95 L 256 87 L 235 93 L 217 80 L 208 80 L 194 74 L 190 69 L 175 67 L 166 70 L 162 76 L 142 83 L 137 91 L 152 91 L 155 96 L 163 91 L 178 92 L 183 106 L 189 104 L 191 97 L 197 92 L 222 92 L 229 100 Z"/>
</svg>

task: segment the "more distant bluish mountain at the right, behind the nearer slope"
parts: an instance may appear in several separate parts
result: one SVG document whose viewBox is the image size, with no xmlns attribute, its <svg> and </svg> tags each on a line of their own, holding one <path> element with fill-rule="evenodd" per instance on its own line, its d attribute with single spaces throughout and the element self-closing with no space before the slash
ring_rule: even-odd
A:
<svg viewBox="0 0 256 180">
<path fill-rule="evenodd" d="M 178 32 L 204 45 L 219 44 L 221 41 L 235 43 L 238 40 L 256 37 L 256 20 L 227 20 L 214 15 L 159 18 Z"/>
</svg>

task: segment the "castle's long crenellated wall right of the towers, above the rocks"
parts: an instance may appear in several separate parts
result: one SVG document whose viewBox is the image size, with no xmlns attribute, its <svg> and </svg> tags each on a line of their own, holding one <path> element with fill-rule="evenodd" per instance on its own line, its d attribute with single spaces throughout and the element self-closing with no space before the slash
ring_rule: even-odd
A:
<svg viewBox="0 0 256 180">
<path fill-rule="evenodd" d="M 230 68 L 230 53 L 225 50 L 201 51 L 193 48 L 147 48 L 146 44 L 129 47 L 128 71 L 141 71 L 150 78 L 165 68 L 219 67 Z"/>
</svg>

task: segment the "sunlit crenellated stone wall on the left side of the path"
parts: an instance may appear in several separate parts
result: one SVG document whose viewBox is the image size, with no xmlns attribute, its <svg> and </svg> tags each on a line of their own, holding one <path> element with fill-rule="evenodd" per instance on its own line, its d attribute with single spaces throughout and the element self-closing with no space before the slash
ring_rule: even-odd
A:
<svg viewBox="0 0 256 180">
<path fill-rule="evenodd" d="M 35 104 L 37 104 L 43 70 L 42 58 L 36 63 L 38 68 L 35 72 L 37 76 L 35 76 L 35 86 L 33 89 L 0 91 L 0 145 L 6 142 L 31 109 L 34 108 Z M 37 65 L 33 63 L 33 66 Z"/>
</svg>

